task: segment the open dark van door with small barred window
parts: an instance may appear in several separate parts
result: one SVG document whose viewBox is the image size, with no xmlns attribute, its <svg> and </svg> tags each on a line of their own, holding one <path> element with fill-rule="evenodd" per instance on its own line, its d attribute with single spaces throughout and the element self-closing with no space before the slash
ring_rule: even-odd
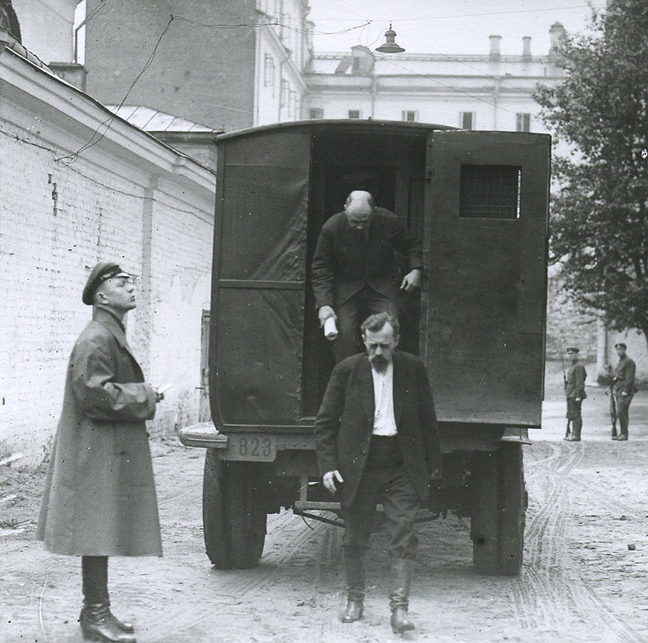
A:
<svg viewBox="0 0 648 643">
<path fill-rule="evenodd" d="M 431 132 L 420 347 L 439 420 L 540 427 L 550 137 Z"/>
</svg>

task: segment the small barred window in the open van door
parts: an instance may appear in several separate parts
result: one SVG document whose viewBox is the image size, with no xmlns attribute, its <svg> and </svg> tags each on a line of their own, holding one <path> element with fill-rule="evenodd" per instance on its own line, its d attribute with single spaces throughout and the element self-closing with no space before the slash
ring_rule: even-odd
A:
<svg viewBox="0 0 648 643">
<path fill-rule="evenodd" d="M 459 216 L 519 219 L 522 169 L 516 165 L 461 164 Z"/>
</svg>

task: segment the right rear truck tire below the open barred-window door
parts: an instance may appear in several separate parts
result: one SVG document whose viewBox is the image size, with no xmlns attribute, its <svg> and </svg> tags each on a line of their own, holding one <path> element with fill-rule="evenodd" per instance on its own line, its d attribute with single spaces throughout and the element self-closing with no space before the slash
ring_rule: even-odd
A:
<svg viewBox="0 0 648 643">
<path fill-rule="evenodd" d="M 476 454 L 471 538 L 475 569 L 484 575 L 512 576 L 522 566 L 526 491 L 521 444 Z"/>
</svg>

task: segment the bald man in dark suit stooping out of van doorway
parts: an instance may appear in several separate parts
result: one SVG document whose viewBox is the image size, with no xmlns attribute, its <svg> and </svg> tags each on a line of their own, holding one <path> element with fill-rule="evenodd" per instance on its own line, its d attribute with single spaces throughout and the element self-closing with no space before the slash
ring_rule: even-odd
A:
<svg viewBox="0 0 648 643">
<path fill-rule="evenodd" d="M 322 226 L 311 266 L 320 324 L 337 321 L 336 362 L 362 350 L 360 323 L 367 315 L 399 318 L 407 294 L 421 284 L 422 267 L 421 241 L 403 219 L 376 207 L 369 192 L 351 192 L 344 211 Z"/>
</svg>

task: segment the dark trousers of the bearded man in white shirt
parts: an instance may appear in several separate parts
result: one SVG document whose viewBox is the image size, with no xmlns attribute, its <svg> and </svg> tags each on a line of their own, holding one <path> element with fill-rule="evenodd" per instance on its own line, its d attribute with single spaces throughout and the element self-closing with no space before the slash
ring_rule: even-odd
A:
<svg viewBox="0 0 648 643">
<path fill-rule="evenodd" d="M 348 558 L 365 555 L 379 502 L 387 518 L 390 556 L 413 560 L 419 542 L 414 518 L 423 503 L 405 470 L 396 436 L 372 436 L 357 493 L 352 505 L 344 508 L 343 546 Z"/>
</svg>

